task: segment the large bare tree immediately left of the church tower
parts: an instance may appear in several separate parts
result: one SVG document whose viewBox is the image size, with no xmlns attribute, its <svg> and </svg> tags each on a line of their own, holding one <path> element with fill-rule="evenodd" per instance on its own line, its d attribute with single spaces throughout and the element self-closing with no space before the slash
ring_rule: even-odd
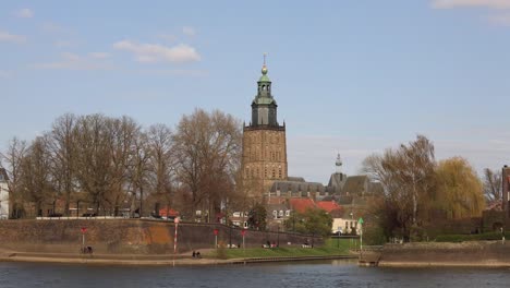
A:
<svg viewBox="0 0 510 288">
<path fill-rule="evenodd" d="M 191 193 L 191 212 L 217 209 L 233 183 L 241 148 L 240 123 L 220 111 L 183 116 L 174 134 L 178 178 Z"/>
</svg>

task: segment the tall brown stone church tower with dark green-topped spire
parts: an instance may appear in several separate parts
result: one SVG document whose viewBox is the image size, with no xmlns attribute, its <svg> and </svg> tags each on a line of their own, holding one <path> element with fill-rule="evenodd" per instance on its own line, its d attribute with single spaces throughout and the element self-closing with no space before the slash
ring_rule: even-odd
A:
<svg viewBox="0 0 510 288">
<path fill-rule="evenodd" d="M 257 84 L 252 122 L 243 129 L 242 171 L 247 195 L 262 200 L 274 181 L 287 180 L 287 140 L 286 124 L 278 123 L 265 60 Z"/>
</svg>

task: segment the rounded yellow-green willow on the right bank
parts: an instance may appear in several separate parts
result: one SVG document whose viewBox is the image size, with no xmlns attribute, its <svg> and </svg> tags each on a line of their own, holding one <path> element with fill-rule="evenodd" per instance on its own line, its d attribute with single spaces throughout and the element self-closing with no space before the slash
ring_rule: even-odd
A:
<svg viewBox="0 0 510 288">
<path fill-rule="evenodd" d="M 449 218 L 482 215 L 485 207 L 483 184 L 467 160 L 453 157 L 439 161 L 436 170 L 436 203 Z"/>
</svg>

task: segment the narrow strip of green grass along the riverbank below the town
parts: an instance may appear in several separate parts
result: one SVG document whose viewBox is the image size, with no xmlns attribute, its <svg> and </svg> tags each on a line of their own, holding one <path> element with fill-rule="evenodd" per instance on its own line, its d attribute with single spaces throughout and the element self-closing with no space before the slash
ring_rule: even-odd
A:
<svg viewBox="0 0 510 288">
<path fill-rule="evenodd" d="M 328 256 L 349 254 L 350 240 L 326 239 L 325 244 L 315 248 L 301 248 L 281 244 L 279 248 L 250 248 L 243 249 L 219 249 L 218 257 L 242 259 L 242 257 L 299 257 L 299 256 Z M 216 257 L 216 251 L 211 251 L 207 257 Z"/>
</svg>

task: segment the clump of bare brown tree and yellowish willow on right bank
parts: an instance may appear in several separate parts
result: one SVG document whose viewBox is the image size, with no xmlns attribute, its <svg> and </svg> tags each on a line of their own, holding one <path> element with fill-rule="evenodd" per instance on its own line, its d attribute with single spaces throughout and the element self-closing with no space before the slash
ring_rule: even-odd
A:
<svg viewBox="0 0 510 288">
<path fill-rule="evenodd" d="M 434 144 L 423 135 L 368 156 L 363 167 L 384 188 L 369 213 L 386 239 L 420 240 L 427 224 L 478 217 L 487 202 L 501 199 L 499 172 L 485 169 L 482 180 L 462 157 L 437 161 Z"/>
</svg>

